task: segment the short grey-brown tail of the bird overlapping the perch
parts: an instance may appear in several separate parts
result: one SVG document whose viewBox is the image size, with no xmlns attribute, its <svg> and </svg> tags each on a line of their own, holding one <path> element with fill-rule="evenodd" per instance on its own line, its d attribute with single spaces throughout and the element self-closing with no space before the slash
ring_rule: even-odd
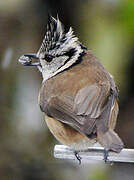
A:
<svg viewBox="0 0 134 180">
<path fill-rule="evenodd" d="M 119 136 L 111 129 L 106 133 L 97 133 L 98 142 L 107 150 L 119 153 L 123 149 L 123 142 Z"/>
</svg>

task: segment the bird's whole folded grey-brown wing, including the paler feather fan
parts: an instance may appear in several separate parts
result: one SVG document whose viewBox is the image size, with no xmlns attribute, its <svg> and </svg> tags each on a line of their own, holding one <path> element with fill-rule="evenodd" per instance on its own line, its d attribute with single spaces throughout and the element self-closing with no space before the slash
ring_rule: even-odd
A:
<svg viewBox="0 0 134 180">
<path fill-rule="evenodd" d="M 94 131 L 97 118 L 107 107 L 109 96 L 108 83 L 100 86 L 90 85 L 79 90 L 73 98 L 71 96 L 52 97 L 44 107 L 42 106 L 42 110 L 81 133 L 90 135 Z M 112 105 L 113 103 L 110 104 L 110 111 Z"/>
</svg>

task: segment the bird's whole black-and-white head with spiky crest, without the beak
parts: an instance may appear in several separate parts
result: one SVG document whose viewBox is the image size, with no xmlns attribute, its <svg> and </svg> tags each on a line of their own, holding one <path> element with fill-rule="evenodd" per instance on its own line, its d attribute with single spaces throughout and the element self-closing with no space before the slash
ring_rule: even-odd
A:
<svg viewBox="0 0 134 180">
<path fill-rule="evenodd" d="M 59 18 L 49 17 L 45 37 L 36 54 L 36 58 L 40 61 L 38 69 L 42 73 L 43 80 L 68 69 L 76 61 L 79 62 L 84 51 L 85 47 L 73 34 L 72 28 L 65 32 Z"/>
</svg>

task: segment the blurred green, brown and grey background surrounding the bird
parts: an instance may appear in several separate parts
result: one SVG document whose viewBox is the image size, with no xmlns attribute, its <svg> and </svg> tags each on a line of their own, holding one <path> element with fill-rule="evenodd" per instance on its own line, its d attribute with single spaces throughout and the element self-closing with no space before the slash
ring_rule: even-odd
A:
<svg viewBox="0 0 134 180">
<path fill-rule="evenodd" d="M 116 132 L 134 148 L 134 1 L 0 0 L 0 180 L 133 180 L 131 164 L 77 165 L 53 157 L 58 142 L 38 106 L 42 77 L 18 63 L 37 52 L 47 14 L 59 15 L 119 87 Z"/>
</svg>

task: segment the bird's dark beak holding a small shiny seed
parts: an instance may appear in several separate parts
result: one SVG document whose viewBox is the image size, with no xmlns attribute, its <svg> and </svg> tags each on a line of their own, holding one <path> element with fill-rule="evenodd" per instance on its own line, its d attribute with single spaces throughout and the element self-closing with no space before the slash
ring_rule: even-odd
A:
<svg viewBox="0 0 134 180">
<path fill-rule="evenodd" d="M 33 62 L 33 59 L 38 59 L 38 62 Z M 39 58 L 36 54 L 25 54 L 19 58 L 19 62 L 24 66 L 40 66 Z"/>
</svg>

